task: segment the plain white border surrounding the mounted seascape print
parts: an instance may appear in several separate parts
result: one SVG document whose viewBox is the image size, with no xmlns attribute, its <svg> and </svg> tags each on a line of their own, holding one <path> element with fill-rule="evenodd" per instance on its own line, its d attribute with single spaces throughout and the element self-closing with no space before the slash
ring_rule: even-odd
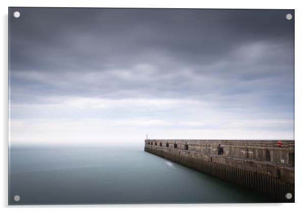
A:
<svg viewBox="0 0 307 212">
<path fill-rule="evenodd" d="M 124 209 L 127 211 L 149 211 L 169 210 L 176 208 L 179 211 L 193 210 L 227 210 L 228 211 L 259 211 L 263 209 L 279 211 L 293 211 L 296 209 L 305 209 L 305 178 L 306 178 L 306 158 L 305 143 L 306 126 L 304 126 L 306 117 L 306 14 L 307 8 L 304 1 L 180 1 L 180 0 L 107 0 L 107 1 L 1 1 L 1 127 L 2 135 L 1 147 L 1 206 L 7 210 L 23 208 L 24 211 L 33 211 L 43 208 L 43 210 L 68 210 L 68 211 L 101 211 L 103 210 L 118 210 Z M 237 8 L 237 9 L 295 9 L 295 146 L 296 146 L 296 191 L 294 204 L 176 204 L 176 205 L 70 205 L 70 206 L 8 206 L 8 7 L 154 7 L 154 8 Z M 84 208 L 86 207 L 86 208 Z"/>
</svg>

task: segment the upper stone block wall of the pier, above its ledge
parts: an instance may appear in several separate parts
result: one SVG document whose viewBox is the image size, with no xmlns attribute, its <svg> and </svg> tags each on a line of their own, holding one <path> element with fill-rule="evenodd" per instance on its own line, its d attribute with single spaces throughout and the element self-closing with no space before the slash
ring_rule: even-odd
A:
<svg viewBox="0 0 307 212">
<path fill-rule="evenodd" d="M 294 141 L 281 140 L 282 146 L 277 146 L 277 140 L 146 140 L 145 143 L 157 143 L 157 146 L 218 154 L 217 147 L 223 148 L 223 154 L 239 158 L 249 158 L 258 161 L 268 161 L 289 164 L 291 154 L 294 154 Z"/>
</svg>

